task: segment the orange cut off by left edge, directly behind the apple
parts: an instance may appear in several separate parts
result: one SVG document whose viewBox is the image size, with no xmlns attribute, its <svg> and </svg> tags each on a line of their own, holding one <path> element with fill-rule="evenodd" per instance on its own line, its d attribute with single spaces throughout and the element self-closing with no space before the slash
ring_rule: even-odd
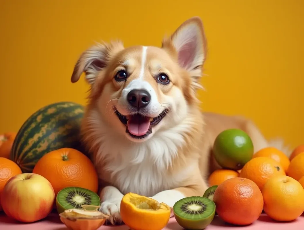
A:
<svg viewBox="0 0 304 230">
<path fill-rule="evenodd" d="M 21 173 L 20 167 L 15 162 L 5 157 L 0 157 L 0 197 L 6 182 Z M 1 210 L 2 207 L 0 203 L 0 211 Z"/>
</svg>

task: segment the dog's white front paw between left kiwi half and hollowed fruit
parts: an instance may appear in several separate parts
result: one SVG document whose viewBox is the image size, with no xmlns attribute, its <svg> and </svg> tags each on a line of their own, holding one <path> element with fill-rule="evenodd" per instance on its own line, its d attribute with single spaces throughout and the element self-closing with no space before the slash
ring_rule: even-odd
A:
<svg viewBox="0 0 304 230">
<path fill-rule="evenodd" d="M 99 211 L 103 214 L 110 216 L 107 224 L 109 222 L 112 225 L 121 225 L 123 221 L 120 216 L 120 202 L 121 200 L 104 201 L 100 204 Z"/>
</svg>

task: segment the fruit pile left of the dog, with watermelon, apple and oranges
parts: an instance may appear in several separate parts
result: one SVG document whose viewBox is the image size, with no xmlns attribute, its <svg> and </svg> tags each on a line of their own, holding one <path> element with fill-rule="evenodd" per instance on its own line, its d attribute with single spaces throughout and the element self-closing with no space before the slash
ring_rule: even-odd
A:
<svg viewBox="0 0 304 230">
<path fill-rule="evenodd" d="M 96 210 L 97 172 L 80 144 L 83 113 L 83 106 L 72 102 L 51 104 L 31 115 L 18 133 L 0 135 L 0 211 L 34 222 L 57 208 L 66 225 L 88 229 L 86 221 L 92 227 L 104 223 L 107 217 Z"/>
</svg>

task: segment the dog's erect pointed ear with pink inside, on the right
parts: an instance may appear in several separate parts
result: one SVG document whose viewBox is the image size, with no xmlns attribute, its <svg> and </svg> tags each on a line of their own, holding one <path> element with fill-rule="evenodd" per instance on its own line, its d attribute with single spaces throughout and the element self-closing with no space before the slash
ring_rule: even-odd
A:
<svg viewBox="0 0 304 230">
<path fill-rule="evenodd" d="M 203 23 L 199 17 L 193 17 L 182 23 L 170 38 L 164 39 L 163 48 L 174 49 L 178 64 L 190 72 L 192 86 L 202 88 L 199 84 L 202 66 L 206 58 L 206 37 Z"/>
</svg>

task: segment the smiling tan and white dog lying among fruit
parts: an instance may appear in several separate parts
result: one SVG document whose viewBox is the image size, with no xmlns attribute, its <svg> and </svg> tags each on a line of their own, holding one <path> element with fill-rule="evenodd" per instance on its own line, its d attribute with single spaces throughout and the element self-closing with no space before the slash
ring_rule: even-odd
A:
<svg viewBox="0 0 304 230">
<path fill-rule="evenodd" d="M 71 82 L 85 73 L 90 84 L 82 141 L 100 180 L 100 211 L 112 225 L 123 223 L 120 202 L 129 192 L 170 207 L 202 196 L 220 168 L 212 146 L 225 129 L 247 132 L 254 151 L 271 146 L 251 120 L 201 111 L 206 53 L 202 20 L 193 17 L 161 47 L 98 43 L 76 62 Z"/>
</svg>

